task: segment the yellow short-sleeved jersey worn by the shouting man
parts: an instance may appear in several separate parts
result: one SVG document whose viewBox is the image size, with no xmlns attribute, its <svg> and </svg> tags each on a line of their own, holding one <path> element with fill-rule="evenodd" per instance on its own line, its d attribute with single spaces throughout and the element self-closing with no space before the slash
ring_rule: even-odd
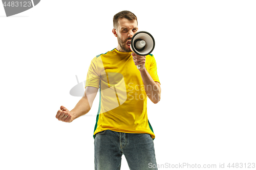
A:
<svg viewBox="0 0 256 170">
<path fill-rule="evenodd" d="M 155 82 L 159 82 L 157 64 L 152 54 L 146 56 L 145 68 Z M 112 130 L 123 133 L 155 134 L 147 118 L 147 95 L 133 61 L 132 52 L 114 48 L 94 57 L 88 70 L 86 87 L 99 88 L 100 101 L 93 137 Z"/>
</svg>

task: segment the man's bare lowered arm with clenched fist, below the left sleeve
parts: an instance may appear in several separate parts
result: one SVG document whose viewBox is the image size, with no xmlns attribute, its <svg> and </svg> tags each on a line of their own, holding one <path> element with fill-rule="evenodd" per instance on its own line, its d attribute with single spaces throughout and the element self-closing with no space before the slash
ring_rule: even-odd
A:
<svg viewBox="0 0 256 170">
<path fill-rule="evenodd" d="M 86 87 L 82 99 L 76 104 L 74 109 L 69 111 L 64 106 L 60 106 L 60 110 L 58 110 L 56 114 L 56 118 L 61 120 L 62 122 L 72 122 L 74 119 L 87 114 L 93 105 L 93 101 L 97 94 L 98 88 L 96 87 Z"/>
</svg>

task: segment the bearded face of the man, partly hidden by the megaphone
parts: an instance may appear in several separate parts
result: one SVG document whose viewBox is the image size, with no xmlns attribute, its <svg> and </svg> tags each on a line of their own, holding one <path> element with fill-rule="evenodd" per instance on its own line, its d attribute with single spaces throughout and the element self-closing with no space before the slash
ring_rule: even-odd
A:
<svg viewBox="0 0 256 170">
<path fill-rule="evenodd" d="M 132 52 L 130 49 L 131 39 L 138 31 L 137 21 L 121 18 L 118 20 L 118 27 L 113 29 L 114 35 L 117 37 L 117 50 L 121 52 Z"/>
</svg>

